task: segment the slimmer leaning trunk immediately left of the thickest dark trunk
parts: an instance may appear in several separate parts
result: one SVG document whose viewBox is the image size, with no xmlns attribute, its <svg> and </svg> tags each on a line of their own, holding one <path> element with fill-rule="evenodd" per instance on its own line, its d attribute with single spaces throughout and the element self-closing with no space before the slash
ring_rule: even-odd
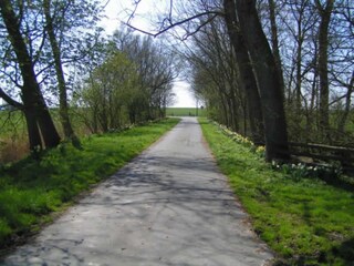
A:
<svg viewBox="0 0 354 266">
<path fill-rule="evenodd" d="M 233 1 L 225 1 L 223 8 L 228 33 L 239 65 L 240 84 L 243 86 L 243 91 L 247 96 L 252 141 L 256 143 L 263 143 L 264 126 L 260 95 L 243 37 L 239 30 L 239 22 L 236 17 Z"/>
</svg>

